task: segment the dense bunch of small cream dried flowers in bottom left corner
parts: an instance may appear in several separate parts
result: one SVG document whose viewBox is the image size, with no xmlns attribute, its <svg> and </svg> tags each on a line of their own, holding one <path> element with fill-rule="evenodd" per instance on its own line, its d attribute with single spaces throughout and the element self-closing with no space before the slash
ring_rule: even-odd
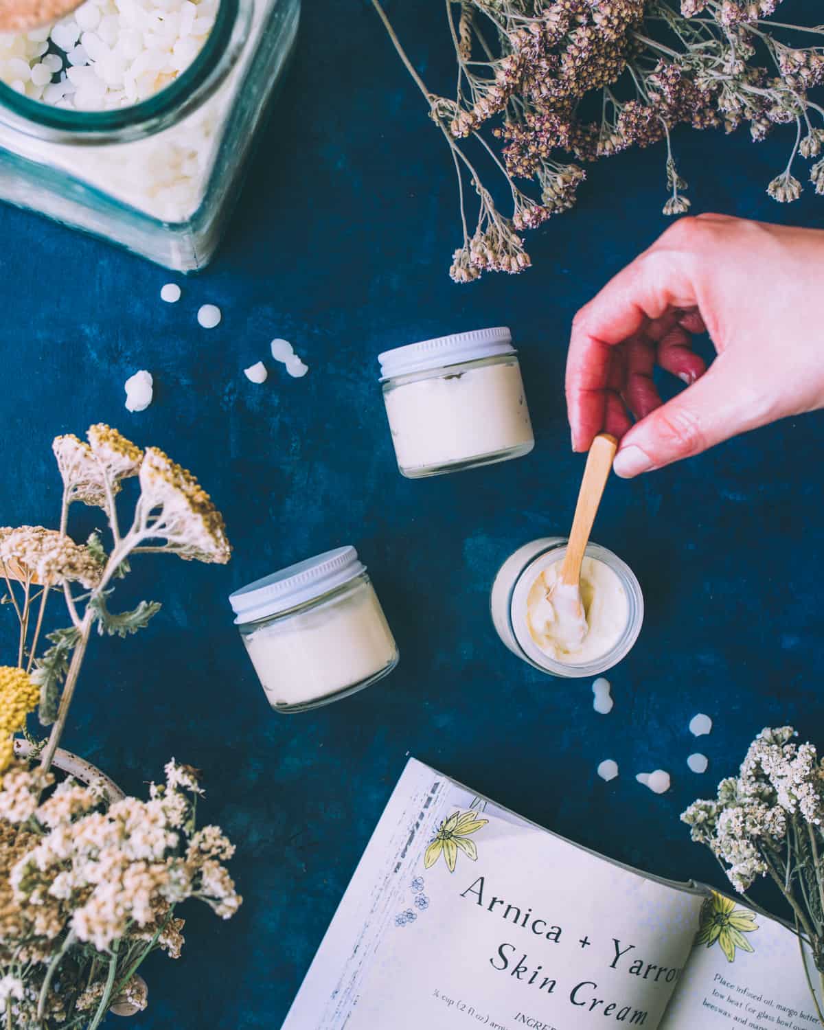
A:
<svg viewBox="0 0 824 1030">
<path fill-rule="evenodd" d="M 0 1026 L 96 1030 L 146 1006 L 138 968 L 180 955 L 175 906 L 205 901 L 229 919 L 235 848 L 195 828 L 197 772 L 174 760 L 149 800 L 111 796 L 13 762 L 0 790 Z"/>
</svg>

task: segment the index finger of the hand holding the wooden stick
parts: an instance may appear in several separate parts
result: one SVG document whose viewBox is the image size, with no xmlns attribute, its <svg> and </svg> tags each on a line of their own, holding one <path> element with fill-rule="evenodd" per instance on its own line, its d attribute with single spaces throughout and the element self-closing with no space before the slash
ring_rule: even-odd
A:
<svg viewBox="0 0 824 1030">
<path fill-rule="evenodd" d="M 566 408 L 573 448 L 587 450 L 604 428 L 612 348 L 648 320 L 696 304 L 688 254 L 657 243 L 614 276 L 573 320 Z"/>
</svg>

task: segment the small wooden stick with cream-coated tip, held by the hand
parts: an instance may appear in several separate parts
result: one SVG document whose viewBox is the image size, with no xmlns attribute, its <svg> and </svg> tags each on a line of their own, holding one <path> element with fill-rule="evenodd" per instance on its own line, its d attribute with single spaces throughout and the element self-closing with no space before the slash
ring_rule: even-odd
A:
<svg viewBox="0 0 824 1030">
<path fill-rule="evenodd" d="M 558 620 L 555 634 L 568 647 L 582 644 L 589 629 L 581 602 L 581 565 L 617 448 L 618 441 L 608 433 L 598 434 L 589 448 L 566 554 L 549 594 Z"/>
</svg>

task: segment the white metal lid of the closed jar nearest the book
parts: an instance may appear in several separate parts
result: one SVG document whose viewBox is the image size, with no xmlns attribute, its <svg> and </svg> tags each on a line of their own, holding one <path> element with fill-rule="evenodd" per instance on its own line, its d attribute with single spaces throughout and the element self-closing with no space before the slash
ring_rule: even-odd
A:
<svg viewBox="0 0 824 1030">
<path fill-rule="evenodd" d="M 353 547 L 339 547 L 299 561 L 230 594 L 236 623 L 254 622 L 322 597 L 366 572 Z"/>
</svg>

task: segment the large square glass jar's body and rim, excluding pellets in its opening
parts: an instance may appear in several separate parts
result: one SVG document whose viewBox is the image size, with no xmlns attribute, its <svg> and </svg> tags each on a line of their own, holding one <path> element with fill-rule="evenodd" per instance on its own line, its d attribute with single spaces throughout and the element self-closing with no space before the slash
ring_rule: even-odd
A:
<svg viewBox="0 0 824 1030">
<path fill-rule="evenodd" d="M 293 50 L 300 6 L 220 0 L 193 63 L 131 106 L 64 109 L 0 81 L 0 200 L 167 268 L 203 268 Z"/>
</svg>

